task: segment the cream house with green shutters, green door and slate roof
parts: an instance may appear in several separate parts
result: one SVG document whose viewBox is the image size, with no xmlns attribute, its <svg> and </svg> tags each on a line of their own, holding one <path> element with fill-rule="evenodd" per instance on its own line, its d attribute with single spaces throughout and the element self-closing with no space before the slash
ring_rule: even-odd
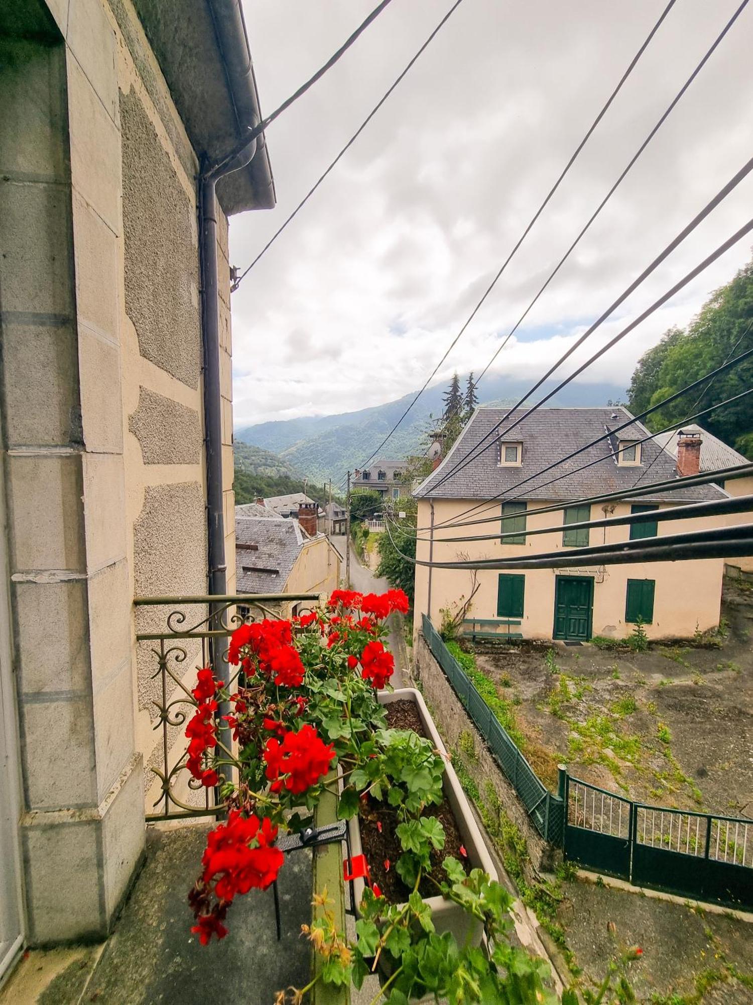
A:
<svg viewBox="0 0 753 1005">
<path fill-rule="evenodd" d="M 623 408 L 541 408 L 508 436 L 495 434 L 490 449 L 438 484 L 504 414 L 498 408 L 478 409 L 448 456 L 417 489 L 418 526 L 434 528 L 420 533 L 419 560 L 533 558 L 559 549 L 563 556 L 571 556 L 575 549 L 589 545 L 679 534 L 721 522 L 718 517 L 703 522 L 696 518 L 608 530 L 567 530 L 569 524 L 578 522 L 727 497 L 716 485 L 701 485 L 632 500 L 631 488 L 677 476 L 672 454 L 653 440 L 637 443 L 649 433 L 635 421 L 554 470 L 531 478 L 562 455 L 631 419 Z M 559 475 L 564 476 L 553 480 Z M 623 499 L 606 507 L 569 505 L 622 489 Z M 554 512 L 536 514 L 536 508 L 560 505 Z M 467 514 L 471 508 L 477 509 Z M 445 526 L 482 518 L 491 518 L 491 523 Z M 539 528 L 552 530 L 528 533 Z M 503 532 L 515 533 L 504 541 L 495 537 Z M 448 540 L 461 536 L 487 536 L 488 540 Z M 439 625 L 443 609 L 456 614 L 473 594 L 466 619 L 485 622 L 476 626 L 479 631 L 585 641 L 593 635 L 628 635 L 640 617 L 652 638 L 688 637 L 697 628 L 705 630 L 719 623 L 723 568 L 722 559 L 603 566 L 591 565 L 585 558 L 582 567 L 525 571 L 473 573 L 417 566 L 415 630 L 423 613 Z"/>
</svg>

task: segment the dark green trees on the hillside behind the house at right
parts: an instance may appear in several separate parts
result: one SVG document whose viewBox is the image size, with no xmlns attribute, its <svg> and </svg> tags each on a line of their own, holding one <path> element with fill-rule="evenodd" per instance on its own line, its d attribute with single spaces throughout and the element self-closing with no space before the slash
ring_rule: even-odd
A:
<svg viewBox="0 0 753 1005">
<path fill-rule="evenodd" d="M 753 261 L 711 295 L 686 332 L 670 330 L 658 346 L 642 357 L 631 382 L 632 411 L 638 413 L 649 405 L 658 404 L 751 347 Z M 647 424 L 652 430 L 663 429 L 751 386 L 753 358 L 654 412 Z M 748 457 L 753 456 L 753 404 L 750 398 L 710 412 L 702 417 L 701 425 Z"/>
</svg>

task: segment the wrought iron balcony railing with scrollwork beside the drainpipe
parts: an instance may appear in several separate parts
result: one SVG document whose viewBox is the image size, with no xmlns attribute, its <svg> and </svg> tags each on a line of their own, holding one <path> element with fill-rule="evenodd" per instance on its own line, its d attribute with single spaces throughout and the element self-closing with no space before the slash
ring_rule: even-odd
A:
<svg viewBox="0 0 753 1005">
<path fill-rule="evenodd" d="M 196 670 L 212 663 L 216 676 L 232 684 L 237 671 L 228 672 L 225 640 L 238 625 L 304 613 L 320 599 L 313 593 L 136 598 L 140 695 L 143 705 L 157 710 L 152 729 L 160 732 L 160 742 L 145 755 L 148 777 L 151 772 L 159 782 L 156 798 L 155 785 L 148 790 L 147 820 L 222 812 L 219 792 L 205 788 L 186 768 L 184 731 L 192 715 Z"/>
</svg>

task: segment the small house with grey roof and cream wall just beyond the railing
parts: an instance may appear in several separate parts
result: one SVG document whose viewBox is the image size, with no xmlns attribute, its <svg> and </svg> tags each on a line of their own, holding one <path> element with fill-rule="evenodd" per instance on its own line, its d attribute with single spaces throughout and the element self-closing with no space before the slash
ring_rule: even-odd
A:
<svg viewBox="0 0 753 1005">
<path fill-rule="evenodd" d="M 237 507 L 235 517 L 238 593 L 330 593 L 336 589 L 340 556 L 326 535 L 315 526 L 308 533 L 305 521 L 274 514 L 247 516 L 247 509 Z M 287 613 L 295 613 L 297 606 Z"/>
</svg>

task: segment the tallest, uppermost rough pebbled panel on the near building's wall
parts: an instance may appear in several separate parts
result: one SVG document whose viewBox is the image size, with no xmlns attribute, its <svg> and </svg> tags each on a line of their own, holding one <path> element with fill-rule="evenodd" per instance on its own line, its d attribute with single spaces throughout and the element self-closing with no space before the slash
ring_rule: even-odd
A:
<svg viewBox="0 0 753 1005">
<path fill-rule="evenodd" d="M 199 385 L 201 329 L 195 216 L 170 158 L 135 91 L 120 92 L 126 313 L 146 359 Z"/>
</svg>

